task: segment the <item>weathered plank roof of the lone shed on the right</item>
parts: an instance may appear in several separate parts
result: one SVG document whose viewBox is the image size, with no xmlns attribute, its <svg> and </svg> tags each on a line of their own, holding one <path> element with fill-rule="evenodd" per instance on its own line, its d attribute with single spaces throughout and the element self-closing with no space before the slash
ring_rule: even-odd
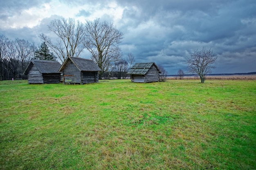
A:
<svg viewBox="0 0 256 170">
<path fill-rule="evenodd" d="M 131 69 L 128 71 L 127 74 L 145 75 L 153 64 L 156 66 L 158 72 L 161 73 L 157 65 L 154 62 L 150 62 L 150 63 L 135 63 L 135 65 L 131 67 Z"/>
</svg>

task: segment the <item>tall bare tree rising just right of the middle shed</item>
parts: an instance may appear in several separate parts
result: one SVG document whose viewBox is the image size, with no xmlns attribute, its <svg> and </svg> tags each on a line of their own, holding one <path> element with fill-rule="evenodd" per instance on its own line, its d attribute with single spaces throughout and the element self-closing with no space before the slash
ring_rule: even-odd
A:
<svg viewBox="0 0 256 170">
<path fill-rule="evenodd" d="M 101 79 L 110 65 L 122 56 L 119 44 L 124 34 L 115 28 L 112 23 L 100 22 L 99 18 L 94 21 L 86 21 L 85 33 L 86 41 L 84 41 L 84 45 L 91 52 L 92 59 L 101 68 L 99 74 L 99 79 Z"/>
</svg>

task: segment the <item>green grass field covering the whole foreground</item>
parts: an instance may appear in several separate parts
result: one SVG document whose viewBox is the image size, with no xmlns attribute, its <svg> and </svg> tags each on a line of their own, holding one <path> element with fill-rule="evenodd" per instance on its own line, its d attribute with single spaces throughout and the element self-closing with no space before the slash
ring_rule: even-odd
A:
<svg viewBox="0 0 256 170">
<path fill-rule="evenodd" d="M 256 81 L 0 82 L 0 169 L 256 169 Z"/>
</svg>

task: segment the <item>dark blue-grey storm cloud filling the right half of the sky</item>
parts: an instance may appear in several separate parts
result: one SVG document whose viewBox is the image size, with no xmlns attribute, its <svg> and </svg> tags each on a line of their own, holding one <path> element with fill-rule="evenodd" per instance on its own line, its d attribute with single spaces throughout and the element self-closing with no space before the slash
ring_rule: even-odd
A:
<svg viewBox="0 0 256 170">
<path fill-rule="evenodd" d="M 128 33 L 124 43 L 133 44 L 139 61 L 155 59 L 157 63 L 168 63 L 173 68 L 169 72 L 175 74 L 175 70 L 185 68 L 182 62 L 186 56 L 207 47 L 218 54 L 220 62 L 224 62 L 219 70 L 215 70 L 218 73 L 226 68 L 230 69 L 226 72 L 243 72 L 243 68 L 246 71 L 249 71 L 246 67 L 254 68 L 255 1 L 147 0 L 119 3 L 127 7 L 123 13 L 126 22 L 121 22 L 121 29 Z M 138 31 L 141 24 L 148 21 L 154 25 Z M 252 63 L 246 62 L 245 58 Z M 232 66 L 239 64 L 239 61 L 239 67 Z"/>
</svg>

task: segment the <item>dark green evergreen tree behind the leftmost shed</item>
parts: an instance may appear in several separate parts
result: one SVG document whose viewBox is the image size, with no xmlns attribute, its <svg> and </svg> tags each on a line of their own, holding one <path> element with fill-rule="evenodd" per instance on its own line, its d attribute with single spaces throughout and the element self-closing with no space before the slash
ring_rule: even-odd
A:
<svg viewBox="0 0 256 170">
<path fill-rule="evenodd" d="M 39 49 L 35 51 L 35 59 L 56 61 L 55 55 L 50 52 L 45 42 L 43 42 L 38 48 Z"/>
</svg>

